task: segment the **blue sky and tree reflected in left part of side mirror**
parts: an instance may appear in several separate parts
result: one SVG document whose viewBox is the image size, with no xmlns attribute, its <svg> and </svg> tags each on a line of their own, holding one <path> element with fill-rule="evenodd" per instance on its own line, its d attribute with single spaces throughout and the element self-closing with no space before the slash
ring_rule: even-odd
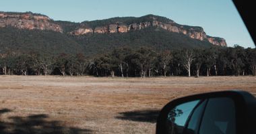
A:
<svg viewBox="0 0 256 134">
<path fill-rule="evenodd" d="M 185 127 L 186 121 L 193 109 L 197 106 L 199 100 L 183 103 L 170 110 L 166 120 L 166 128 L 170 134 L 181 134 Z"/>
</svg>

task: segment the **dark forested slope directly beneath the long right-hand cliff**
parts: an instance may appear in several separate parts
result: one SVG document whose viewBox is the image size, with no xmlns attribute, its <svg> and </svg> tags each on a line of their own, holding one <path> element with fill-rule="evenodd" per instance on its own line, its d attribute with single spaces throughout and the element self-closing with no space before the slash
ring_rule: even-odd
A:
<svg viewBox="0 0 256 134">
<path fill-rule="evenodd" d="M 164 29 L 150 27 L 140 31 L 116 34 L 91 34 L 88 36 L 69 36 L 84 46 L 86 54 L 96 54 L 129 46 L 152 47 L 156 50 L 172 50 L 178 48 L 210 48 L 212 44 L 206 41 L 191 39 L 183 34 L 168 32 Z"/>
</svg>

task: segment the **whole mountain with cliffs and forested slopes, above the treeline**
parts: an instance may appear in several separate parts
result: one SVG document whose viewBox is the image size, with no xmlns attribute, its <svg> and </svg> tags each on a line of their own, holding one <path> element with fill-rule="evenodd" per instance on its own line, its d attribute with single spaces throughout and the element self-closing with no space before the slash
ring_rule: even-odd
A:
<svg viewBox="0 0 256 134">
<path fill-rule="evenodd" d="M 207 36 L 202 27 L 180 25 L 157 15 L 113 17 L 73 23 L 46 15 L 0 12 L 0 50 L 59 54 L 96 54 L 120 46 L 157 50 L 226 46 L 223 38 Z"/>
</svg>

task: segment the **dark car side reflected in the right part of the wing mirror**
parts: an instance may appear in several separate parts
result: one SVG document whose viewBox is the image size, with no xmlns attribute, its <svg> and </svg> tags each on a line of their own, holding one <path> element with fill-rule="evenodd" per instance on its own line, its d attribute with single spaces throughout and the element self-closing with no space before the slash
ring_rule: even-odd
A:
<svg viewBox="0 0 256 134">
<path fill-rule="evenodd" d="M 220 97 L 209 99 L 199 130 L 199 134 L 204 133 L 236 133 L 235 105 L 231 98 Z"/>
</svg>

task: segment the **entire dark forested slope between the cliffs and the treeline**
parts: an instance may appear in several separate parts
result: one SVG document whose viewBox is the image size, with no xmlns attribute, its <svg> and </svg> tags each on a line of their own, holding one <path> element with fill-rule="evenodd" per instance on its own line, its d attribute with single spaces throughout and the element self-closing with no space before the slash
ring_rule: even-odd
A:
<svg viewBox="0 0 256 134">
<path fill-rule="evenodd" d="M 183 34 L 148 28 L 122 34 L 94 34 L 72 36 L 55 31 L 0 28 L 0 50 L 2 53 L 30 53 L 56 55 L 82 53 L 85 56 L 111 51 L 121 46 L 139 48 L 152 47 L 156 50 L 178 48 L 210 48 L 212 44 L 198 41 Z"/>
</svg>

